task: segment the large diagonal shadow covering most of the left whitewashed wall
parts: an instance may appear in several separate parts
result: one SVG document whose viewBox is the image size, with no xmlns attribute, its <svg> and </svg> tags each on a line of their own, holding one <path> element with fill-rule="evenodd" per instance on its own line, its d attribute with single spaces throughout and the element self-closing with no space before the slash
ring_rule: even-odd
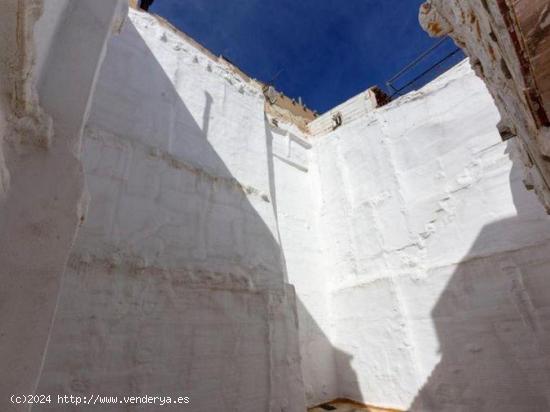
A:
<svg viewBox="0 0 550 412">
<path fill-rule="evenodd" d="M 83 153 L 91 204 L 38 392 L 185 393 L 197 412 L 300 411 L 296 303 L 266 224 L 275 186 L 272 204 L 245 193 L 208 140 L 209 130 L 245 125 L 216 118 L 216 96 L 204 91 L 199 127 L 177 87 L 127 20 L 91 110 L 100 135 Z"/>
</svg>

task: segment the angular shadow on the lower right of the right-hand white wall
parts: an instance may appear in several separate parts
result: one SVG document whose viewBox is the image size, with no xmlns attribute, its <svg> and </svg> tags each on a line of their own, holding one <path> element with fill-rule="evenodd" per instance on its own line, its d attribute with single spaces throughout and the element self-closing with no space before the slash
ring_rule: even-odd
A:
<svg viewBox="0 0 550 412">
<path fill-rule="evenodd" d="M 517 216 L 485 226 L 470 256 L 525 245 L 521 225 L 540 232 L 544 212 L 521 174 L 510 177 Z M 550 410 L 549 256 L 546 241 L 458 265 L 431 312 L 441 360 L 411 411 Z"/>
</svg>

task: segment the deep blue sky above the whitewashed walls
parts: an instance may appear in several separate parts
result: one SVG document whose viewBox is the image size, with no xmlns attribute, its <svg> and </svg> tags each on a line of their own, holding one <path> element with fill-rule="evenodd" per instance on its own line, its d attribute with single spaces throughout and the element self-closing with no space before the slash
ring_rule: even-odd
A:
<svg viewBox="0 0 550 412">
<path fill-rule="evenodd" d="M 422 2 L 155 0 L 150 11 L 254 78 L 267 82 L 282 70 L 275 87 L 323 113 L 370 86 L 385 87 L 437 41 L 418 23 Z M 453 49 L 448 42 L 440 53 Z"/>
</svg>

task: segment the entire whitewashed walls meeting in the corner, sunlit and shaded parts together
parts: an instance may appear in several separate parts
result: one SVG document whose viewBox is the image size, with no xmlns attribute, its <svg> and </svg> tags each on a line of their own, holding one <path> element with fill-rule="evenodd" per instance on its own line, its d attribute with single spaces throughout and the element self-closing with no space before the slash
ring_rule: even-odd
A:
<svg viewBox="0 0 550 412">
<path fill-rule="evenodd" d="M 85 129 L 91 201 L 39 392 L 547 409 L 550 222 L 482 82 L 462 64 L 365 96 L 326 135 L 274 127 L 258 83 L 132 11 Z"/>
</svg>

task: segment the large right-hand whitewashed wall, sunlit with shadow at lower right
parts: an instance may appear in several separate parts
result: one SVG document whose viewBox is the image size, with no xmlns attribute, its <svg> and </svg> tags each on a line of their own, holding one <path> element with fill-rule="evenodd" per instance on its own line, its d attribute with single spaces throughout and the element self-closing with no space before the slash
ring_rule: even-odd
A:
<svg viewBox="0 0 550 412">
<path fill-rule="evenodd" d="M 547 410 L 550 220 L 463 63 L 315 144 L 341 396 Z"/>
</svg>

